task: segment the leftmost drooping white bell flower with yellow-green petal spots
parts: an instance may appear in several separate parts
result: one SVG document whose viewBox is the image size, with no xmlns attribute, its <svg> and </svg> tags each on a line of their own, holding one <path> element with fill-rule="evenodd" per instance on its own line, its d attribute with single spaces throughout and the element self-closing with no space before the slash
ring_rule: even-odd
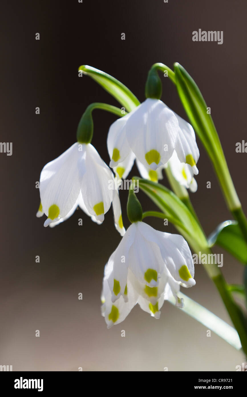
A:
<svg viewBox="0 0 247 397">
<path fill-rule="evenodd" d="M 98 224 L 113 202 L 115 225 L 121 235 L 119 195 L 108 188 L 113 173 L 91 144 L 74 143 L 61 156 L 44 166 L 40 174 L 41 207 L 37 216 L 48 217 L 44 226 L 54 226 L 69 218 L 77 206 Z"/>
</svg>

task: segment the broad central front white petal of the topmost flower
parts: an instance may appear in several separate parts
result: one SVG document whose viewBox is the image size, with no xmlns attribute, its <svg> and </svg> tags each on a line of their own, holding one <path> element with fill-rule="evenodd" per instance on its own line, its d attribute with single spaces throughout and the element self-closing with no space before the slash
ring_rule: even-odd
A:
<svg viewBox="0 0 247 397">
<path fill-rule="evenodd" d="M 172 110 L 160 100 L 148 98 L 129 114 L 126 137 L 138 160 L 156 170 L 172 155 L 178 128 Z"/>
</svg>

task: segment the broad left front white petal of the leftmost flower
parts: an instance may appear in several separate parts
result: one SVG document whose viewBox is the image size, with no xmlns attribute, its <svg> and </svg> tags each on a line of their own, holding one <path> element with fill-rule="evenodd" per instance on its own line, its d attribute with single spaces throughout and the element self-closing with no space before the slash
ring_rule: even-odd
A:
<svg viewBox="0 0 247 397">
<path fill-rule="evenodd" d="M 85 151 L 79 150 L 78 143 L 44 166 L 40 174 L 40 200 L 49 217 L 45 225 L 65 217 L 73 208 L 84 172 Z"/>
</svg>

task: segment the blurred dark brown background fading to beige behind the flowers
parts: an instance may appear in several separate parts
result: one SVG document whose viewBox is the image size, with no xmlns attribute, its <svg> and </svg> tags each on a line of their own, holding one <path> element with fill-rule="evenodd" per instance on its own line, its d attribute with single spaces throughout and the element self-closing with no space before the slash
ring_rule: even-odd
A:
<svg viewBox="0 0 247 397">
<path fill-rule="evenodd" d="M 34 371 L 163 371 L 165 366 L 169 371 L 234 371 L 243 354 L 214 333 L 207 337 L 204 326 L 169 303 L 163 305 L 159 321 L 136 306 L 122 324 L 107 330 L 100 314 L 101 281 L 104 265 L 120 241 L 112 211 L 101 226 L 78 210 L 64 224 L 44 228 L 45 218 L 35 217 L 35 182 L 42 167 L 75 142 L 88 104 L 117 105 L 89 77 L 78 77 L 81 64 L 110 73 L 142 101 L 151 65 L 163 62 L 171 67 L 179 62 L 211 107 L 247 212 L 246 154 L 235 151 L 236 142 L 246 137 L 246 2 L 11 1 L 2 5 L 0 19 L 0 141 L 13 142 L 12 156 L 0 154 L 0 364 Z M 193 42 L 192 31 L 198 29 L 224 31 L 223 44 Z M 162 100 L 186 118 L 168 79 L 163 79 Z M 35 114 L 36 106 L 40 115 Z M 94 112 L 92 143 L 107 163 L 106 137 L 114 120 L 111 114 Z M 232 217 L 207 154 L 199 141 L 198 145 L 198 191 L 191 200 L 208 235 Z M 134 169 L 130 176 L 136 173 Z M 207 181 L 211 189 L 206 189 Z M 163 183 L 167 185 L 165 179 Z M 139 194 L 144 210 L 154 208 Z M 127 227 L 126 198 L 122 192 Z M 78 218 L 83 218 L 83 226 Z M 147 222 L 164 230 L 162 220 Z M 169 226 L 165 231 L 175 229 Z M 222 271 L 232 283 L 241 282 L 243 266 L 225 252 Z M 195 287 L 182 292 L 229 322 L 200 265 L 195 279 Z M 39 338 L 35 330 L 40 330 Z"/>
</svg>

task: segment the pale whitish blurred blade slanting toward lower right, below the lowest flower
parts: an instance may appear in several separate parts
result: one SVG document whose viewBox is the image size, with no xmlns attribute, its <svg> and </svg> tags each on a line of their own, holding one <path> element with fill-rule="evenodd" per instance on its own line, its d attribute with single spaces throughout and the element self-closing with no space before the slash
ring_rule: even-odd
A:
<svg viewBox="0 0 247 397">
<path fill-rule="evenodd" d="M 241 342 L 238 333 L 233 327 L 221 320 L 221 318 L 217 317 L 205 307 L 201 306 L 201 304 L 184 295 L 182 292 L 179 293 L 179 297 L 184 299 L 184 308 L 180 310 L 205 325 L 208 330 L 219 335 L 222 339 L 235 347 L 235 349 L 241 349 Z M 176 302 L 174 297 L 168 299 L 168 301 L 172 304 L 175 304 Z"/>
</svg>

